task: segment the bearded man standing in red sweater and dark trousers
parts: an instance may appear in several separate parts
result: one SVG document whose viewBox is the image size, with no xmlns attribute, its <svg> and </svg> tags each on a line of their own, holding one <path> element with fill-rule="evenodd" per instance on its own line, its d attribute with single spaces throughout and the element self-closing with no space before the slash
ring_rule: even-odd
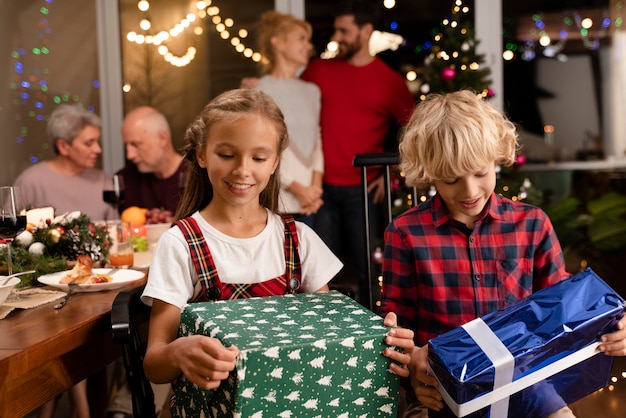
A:
<svg viewBox="0 0 626 418">
<path fill-rule="evenodd" d="M 322 92 L 321 129 L 324 152 L 324 204 L 315 230 L 335 254 L 349 250 L 359 275 L 359 300 L 368 300 L 364 212 L 361 175 L 352 165 L 355 155 L 384 151 L 385 137 L 394 123 L 405 125 L 414 100 L 399 73 L 369 50 L 369 40 L 380 18 L 377 4 L 347 0 L 334 11 L 333 40 L 339 56 L 313 60 L 301 78 Z M 379 169 L 368 174 L 371 220 L 384 198 Z M 376 222 L 372 228 L 377 234 Z M 371 235 L 376 236 L 376 235 Z"/>
</svg>

